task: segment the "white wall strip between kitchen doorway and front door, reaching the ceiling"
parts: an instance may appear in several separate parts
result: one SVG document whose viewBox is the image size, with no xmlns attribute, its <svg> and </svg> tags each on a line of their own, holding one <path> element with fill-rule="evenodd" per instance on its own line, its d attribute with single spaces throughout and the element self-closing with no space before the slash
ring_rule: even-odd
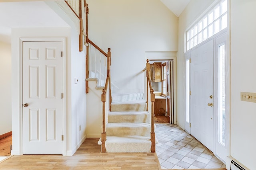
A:
<svg viewBox="0 0 256 170">
<path fill-rule="evenodd" d="M 192 0 L 179 16 L 179 34 L 178 34 L 178 53 L 177 53 L 177 124 L 185 128 L 186 107 L 186 80 L 185 80 L 185 61 L 184 61 L 184 34 L 194 20 L 200 16 L 214 0 Z"/>
</svg>

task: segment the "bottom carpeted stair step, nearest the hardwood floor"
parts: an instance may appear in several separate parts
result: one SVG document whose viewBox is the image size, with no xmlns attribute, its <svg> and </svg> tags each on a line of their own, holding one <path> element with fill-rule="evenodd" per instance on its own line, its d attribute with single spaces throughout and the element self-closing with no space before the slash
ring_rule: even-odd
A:
<svg viewBox="0 0 256 170">
<path fill-rule="evenodd" d="M 108 136 L 105 142 L 106 152 L 150 152 L 150 137 L 144 136 Z"/>
</svg>

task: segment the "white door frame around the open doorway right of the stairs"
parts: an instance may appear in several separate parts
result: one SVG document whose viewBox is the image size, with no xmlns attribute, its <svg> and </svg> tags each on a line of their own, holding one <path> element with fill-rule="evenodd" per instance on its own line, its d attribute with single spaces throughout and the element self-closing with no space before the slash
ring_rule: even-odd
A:
<svg viewBox="0 0 256 170">
<path fill-rule="evenodd" d="M 176 53 L 175 53 L 176 54 Z M 155 56 L 148 56 L 148 59 L 150 61 L 173 61 L 173 115 L 174 115 L 174 123 L 173 124 L 177 124 L 177 79 L 176 79 L 176 57 L 159 57 L 156 58 Z M 146 78 L 145 78 L 145 89 L 147 89 L 147 82 L 146 82 Z M 146 91 L 145 91 L 146 92 Z M 171 116 L 170 116 L 170 123 L 171 123 Z"/>
</svg>

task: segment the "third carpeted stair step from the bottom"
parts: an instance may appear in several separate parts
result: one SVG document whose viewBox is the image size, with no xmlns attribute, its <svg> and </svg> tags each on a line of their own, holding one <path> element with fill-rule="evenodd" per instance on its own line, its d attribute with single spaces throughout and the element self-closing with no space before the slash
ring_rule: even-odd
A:
<svg viewBox="0 0 256 170">
<path fill-rule="evenodd" d="M 149 123 L 149 118 L 150 115 L 148 111 L 110 111 L 108 113 L 108 123 Z"/>
</svg>

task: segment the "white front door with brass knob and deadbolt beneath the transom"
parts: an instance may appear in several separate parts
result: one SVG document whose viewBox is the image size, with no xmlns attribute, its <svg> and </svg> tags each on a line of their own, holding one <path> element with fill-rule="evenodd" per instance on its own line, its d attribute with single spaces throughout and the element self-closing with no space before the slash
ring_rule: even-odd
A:
<svg viewBox="0 0 256 170">
<path fill-rule="evenodd" d="M 191 51 L 191 135 L 214 152 L 213 40 Z"/>
</svg>

